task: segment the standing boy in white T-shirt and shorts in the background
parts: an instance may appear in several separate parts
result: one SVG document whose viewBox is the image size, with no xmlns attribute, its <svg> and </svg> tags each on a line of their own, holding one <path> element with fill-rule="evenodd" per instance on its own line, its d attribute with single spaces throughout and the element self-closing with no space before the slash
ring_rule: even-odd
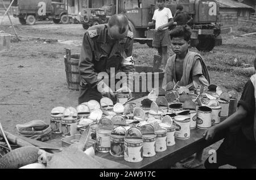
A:
<svg viewBox="0 0 256 180">
<path fill-rule="evenodd" d="M 152 46 L 158 48 L 158 55 L 163 58 L 163 65 L 166 66 L 168 59 L 168 45 L 171 44 L 168 27 L 172 26 L 172 12 L 164 7 L 164 0 L 157 0 L 158 9 L 155 10 L 152 22 L 148 23 L 148 27 L 154 27 L 156 34 L 153 38 Z"/>
</svg>

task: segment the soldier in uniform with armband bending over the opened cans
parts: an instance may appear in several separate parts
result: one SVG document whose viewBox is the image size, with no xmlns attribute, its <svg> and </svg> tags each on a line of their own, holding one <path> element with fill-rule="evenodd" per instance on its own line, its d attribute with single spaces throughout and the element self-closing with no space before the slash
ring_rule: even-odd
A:
<svg viewBox="0 0 256 180">
<path fill-rule="evenodd" d="M 110 69 L 114 69 L 115 73 L 135 72 L 132 52 L 133 32 L 129 30 L 129 21 L 125 15 L 113 15 L 108 24 L 90 27 L 84 35 L 80 54 L 79 104 L 90 100 L 99 102 L 102 96 L 114 98 L 115 90 L 98 74 L 105 72 L 114 78 Z M 117 91 L 130 91 L 128 85 L 123 85 Z"/>
</svg>

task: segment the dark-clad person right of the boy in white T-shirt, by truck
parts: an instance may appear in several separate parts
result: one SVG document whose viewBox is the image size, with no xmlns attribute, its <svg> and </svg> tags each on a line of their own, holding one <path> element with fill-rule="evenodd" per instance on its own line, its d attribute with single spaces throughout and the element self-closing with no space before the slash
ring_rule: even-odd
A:
<svg viewBox="0 0 256 180">
<path fill-rule="evenodd" d="M 177 23 L 177 26 L 179 25 L 190 25 L 192 23 L 193 18 L 188 14 L 188 12 L 183 11 L 182 5 L 177 5 L 176 12 L 174 14 L 174 22 Z"/>
</svg>

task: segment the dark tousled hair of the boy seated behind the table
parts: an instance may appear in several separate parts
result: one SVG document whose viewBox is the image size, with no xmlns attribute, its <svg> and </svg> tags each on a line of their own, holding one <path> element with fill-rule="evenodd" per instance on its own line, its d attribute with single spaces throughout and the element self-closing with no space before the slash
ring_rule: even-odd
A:
<svg viewBox="0 0 256 180">
<path fill-rule="evenodd" d="M 183 37 L 185 41 L 189 41 L 191 37 L 191 28 L 188 25 L 177 26 L 171 31 L 171 39 L 174 37 Z"/>
</svg>

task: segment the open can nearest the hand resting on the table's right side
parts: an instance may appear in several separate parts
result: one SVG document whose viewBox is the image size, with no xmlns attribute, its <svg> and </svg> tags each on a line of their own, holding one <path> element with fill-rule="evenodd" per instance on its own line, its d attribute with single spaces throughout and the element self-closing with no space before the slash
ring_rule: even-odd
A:
<svg viewBox="0 0 256 180">
<path fill-rule="evenodd" d="M 207 106 L 200 106 L 197 110 L 197 128 L 208 129 L 212 127 L 212 109 Z"/>
</svg>

